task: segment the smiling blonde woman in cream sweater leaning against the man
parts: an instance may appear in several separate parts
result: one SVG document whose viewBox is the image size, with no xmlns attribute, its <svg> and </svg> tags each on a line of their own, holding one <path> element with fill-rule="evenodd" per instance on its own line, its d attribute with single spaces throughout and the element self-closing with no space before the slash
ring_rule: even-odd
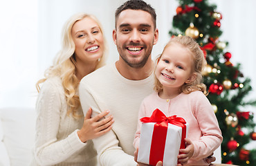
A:
<svg viewBox="0 0 256 166">
<path fill-rule="evenodd" d="M 102 28 L 95 17 L 80 13 L 68 19 L 62 37 L 53 66 L 37 82 L 35 160 L 37 165 L 96 165 L 91 139 L 107 133 L 113 117 L 104 111 L 91 118 L 91 109 L 84 116 L 77 92 L 82 77 L 104 65 Z"/>
</svg>

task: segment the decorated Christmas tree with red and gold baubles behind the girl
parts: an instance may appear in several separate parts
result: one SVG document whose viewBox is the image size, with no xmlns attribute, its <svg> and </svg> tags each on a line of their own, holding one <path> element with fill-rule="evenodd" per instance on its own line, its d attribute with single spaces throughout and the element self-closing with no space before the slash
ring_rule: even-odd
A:
<svg viewBox="0 0 256 166">
<path fill-rule="evenodd" d="M 203 82 L 208 87 L 208 99 L 219 121 L 223 135 L 222 163 L 256 165 L 256 149 L 244 145 L 255 141 L 253 113 L 246 106 L 256 101 L 245 101 L 252 90 L 250 79 L 239 71 L 241 64 L 232 64 L 228 42 L 221 41 L 222 15 L 217 6 L 207 0 L 179 0 L 170 35 L 187 35 L 199 43 L 207 66 Z"/>
</svg>

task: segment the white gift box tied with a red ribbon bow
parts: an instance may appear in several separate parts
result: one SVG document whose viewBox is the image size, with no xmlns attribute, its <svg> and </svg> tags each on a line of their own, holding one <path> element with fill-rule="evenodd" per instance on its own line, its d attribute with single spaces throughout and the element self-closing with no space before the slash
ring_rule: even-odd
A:
<svg viewBox="0 0 256 166">
<path fill-rule="evenodd" d="M 185 148 L 188 124 L 181 117 L 170 116 L 156 109 L 151 117 L 140 119 L 143 122 L 140 130 L 140 147 L 138 162 L 163 166 L 177 165 L 179 149 Z"/>
</svg>

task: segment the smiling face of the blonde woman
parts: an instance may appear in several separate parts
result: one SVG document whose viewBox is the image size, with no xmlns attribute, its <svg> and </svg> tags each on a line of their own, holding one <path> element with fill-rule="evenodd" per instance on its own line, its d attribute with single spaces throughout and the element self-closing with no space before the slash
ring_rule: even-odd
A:
<svg viewBox="0 0 256 166">
<path fill-rule="evenodd" d="M 71 35 L 75 43 L 75 60 L 77 64 L 96 62 L 104 53 L 104 39 L 100 27 L 86 17 L 76 21 L 72 27 Z"/>
</svg>

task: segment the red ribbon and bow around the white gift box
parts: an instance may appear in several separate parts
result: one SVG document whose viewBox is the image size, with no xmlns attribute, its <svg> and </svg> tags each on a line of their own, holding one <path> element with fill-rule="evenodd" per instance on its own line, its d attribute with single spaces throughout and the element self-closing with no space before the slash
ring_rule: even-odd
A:
<svg viewBox="0 0 256 166">
<path fill-rule="evenodd" d="M 158 161 L 163 162 L 165 151 L 165 140 L 167 135 L 168 123 L 182 127 L 181 147 L 185 149 L 186 122 L 183 118 L 177 116 L 165 116 L 159 109 L 155 109 L 151 117 L 140 118 L 141 122 L 156 122 L 152 135 L 152 144 L 149 154 L 149 165 L 156 165 Z"/>
</svg>

